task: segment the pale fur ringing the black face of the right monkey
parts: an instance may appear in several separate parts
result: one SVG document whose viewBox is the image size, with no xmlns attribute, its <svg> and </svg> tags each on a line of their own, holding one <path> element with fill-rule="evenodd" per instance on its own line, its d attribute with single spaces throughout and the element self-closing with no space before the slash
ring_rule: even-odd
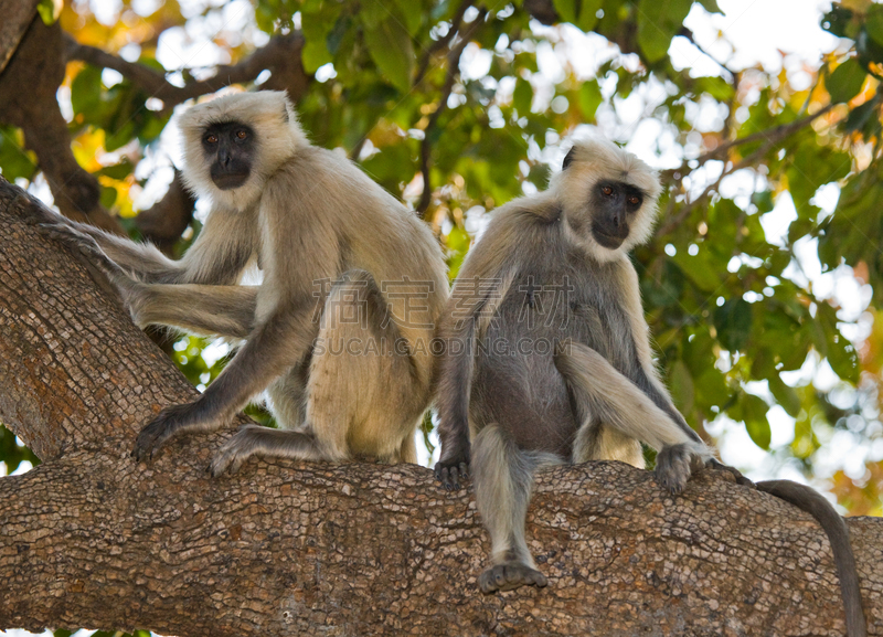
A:
<svg viewBox="0 0 883 637">
<path fill-rule="evenodd" d="M 576 141 L 567 155 L 571 158 L 570 164 L 552 177 L 549 188 L 555 191 L 563 205 L 565 219 L 570 216 L 574 221 L 582 219 L 586 222 L 585 232 L 574 236 L 574 240 L 598 261 L 608 262 L 650 238 L 657 215 L 657 201 L 662 192 L 656 170 L 603 138 Z M 643 204 L 635 216 L 629 235 L 616 250 L 596 242 L 588 226 L 592 217 L 591 193 L 602 180 L 621 181 L 643 192 Z"/>
</svg>

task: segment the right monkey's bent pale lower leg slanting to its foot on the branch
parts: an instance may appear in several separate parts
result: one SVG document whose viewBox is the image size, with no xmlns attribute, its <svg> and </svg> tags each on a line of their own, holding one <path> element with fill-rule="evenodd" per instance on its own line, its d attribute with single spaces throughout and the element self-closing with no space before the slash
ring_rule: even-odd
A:
<svg viewBox="0 0 883 637">
<path fill-rule="evenodd" d="M 656 478 L 671 492 L 682 491 L 691 474 L 711 458 L 711 450 L 704 444 L 689 436 L 592 348 L 570 340 L 558 343 L 555 367 L 582 411 L 659 449 Z"/>
</svg>

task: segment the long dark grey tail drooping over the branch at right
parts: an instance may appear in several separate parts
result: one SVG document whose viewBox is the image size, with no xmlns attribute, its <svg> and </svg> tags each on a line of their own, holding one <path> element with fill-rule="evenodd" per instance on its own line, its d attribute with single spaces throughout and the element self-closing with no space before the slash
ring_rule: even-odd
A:
<svg viewBox="0 0 883 637">
<path fill-rule="evenodd" d="M 770 493 L 806 511 L 821 524 L 831 543 L 837 576 L 840 578 L 840 594 L 847 613 L 847 637 L 866 637 L 868 622 L 862 608 L 859 573 L 847 522 L 821 493 L 806 485 L 791 480 L 766 480 L 756 482 L 756 487 L 758 491 Z"/>
</svg>

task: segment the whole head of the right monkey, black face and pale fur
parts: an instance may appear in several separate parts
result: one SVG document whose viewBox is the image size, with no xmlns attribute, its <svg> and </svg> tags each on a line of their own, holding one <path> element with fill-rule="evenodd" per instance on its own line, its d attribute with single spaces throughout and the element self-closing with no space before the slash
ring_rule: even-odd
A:
<svg viewBox="0 0 883 637">
<path fill-rule="evenodd" d="M 568 234 L 600 262 L 650 237 L 661 192 L 655 170 L 606 139 L 577 141 L 552 178 Z"/>
</svg>

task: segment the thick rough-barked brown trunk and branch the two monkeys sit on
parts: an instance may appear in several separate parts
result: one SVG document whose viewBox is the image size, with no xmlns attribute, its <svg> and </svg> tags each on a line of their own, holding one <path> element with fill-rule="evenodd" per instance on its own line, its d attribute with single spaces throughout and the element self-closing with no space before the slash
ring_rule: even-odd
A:
<svg viewBox="0 0 883 637">
<path fill-rule="evenodd" d="M 17 199 L 18 197 L 18 199 Z M 544 590 L 482 596 L 471 495 L 417 466 L 251 460 L 211 479 L 234 427 L 129 457 L 195 391 L 0 180 L 0 421 L 45 460 L 0 479 L 0 628 L 167 635 L 843 634 L 806 514 L 706 474 L 671 498 L 616 463 L 549 470 L 529 537 Z M 883 524 L 849 522 L 871 634 Z"/>
</svg>

